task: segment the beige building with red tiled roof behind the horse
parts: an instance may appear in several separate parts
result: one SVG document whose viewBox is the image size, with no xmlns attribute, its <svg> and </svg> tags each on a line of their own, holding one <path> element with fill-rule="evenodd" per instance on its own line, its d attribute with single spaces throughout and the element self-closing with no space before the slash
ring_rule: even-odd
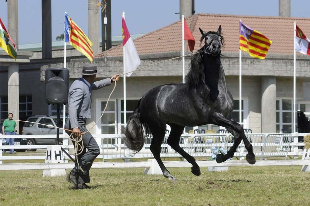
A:
<svg viewBox="0 0 310 206">
<path fill-rule="evenodd" d="M 199 27 L 205 31 L 217 30 L 222 26 L 222 35 L 225 38 L 225 47 L 222 64 L 226 74 L 228 88 L 235 99 L 233 117 L 239 122 L 239 20 L 260 31 L 272 40 L 265 60 L 254 59 L 242 52 L 242 117 L 244 128 L 253 132 L 282 132 L 282 129 L 292 132 L 293 123 L 293 31 L 294 21 L 303 29 L 305 34 L 310 34 L 307 25 L 310 19 L 291 17 L 261 17 L 261 16 L 235 16 L 195 14 L 186 19 L 189 28 L 196 39 L 195 50 L 199 49 L 201 34 Z M 140 67 L 158 63 L 165 59 L 181 56 L 181 21 L 175 22 L 164 28 L 145 34 L 134 40 L 141 59 Z M 187 46 L 187 54 L 189 48 Z M 112 74 L 123 73 L 122 45 L 108 50 L 107 62 L 104 62 L 105 52 L 98 55 L 94 63 L 99 69 L 104 70 L 98 78 L 109 77 Z M 185 65 L 188 65 L 186 58 Z M 75 73 L 82 69 L 85 60 L 75 59 L 67 64 L 70 70 L 70 82 L 79 77 Z M 297 103 L 298 110 L 310 112 L 310 94 L 307 89 L 310 75 L 308 73 L 309 57 L 297 55 L 296 61 Z M 41 80 L 44 81 L 46 68 L 59 67 L 61 64 L 45 65 L 41 67 Z M 181 59 L 167 61 L 137 72 L 126 78 L 127 88 L 127 118 L 130 116 L 137 101 L 149 89 L 168 83 L 182 82 Z M 103 91 L 94 91 L 92 105 L 92 123 L 100 117 L 107 97 L 112 88 Z M 111 96 L 109 110 L 106 111 L 95 133 L 115 133 L 124 124 L 123 119 L 123 85 L 117 83 L 116 90 Z M 215 125 L 205 125 L 198 128 L 219 129 Z M 189 131 L 192 128 L 186 128 Z"/>
</svg>

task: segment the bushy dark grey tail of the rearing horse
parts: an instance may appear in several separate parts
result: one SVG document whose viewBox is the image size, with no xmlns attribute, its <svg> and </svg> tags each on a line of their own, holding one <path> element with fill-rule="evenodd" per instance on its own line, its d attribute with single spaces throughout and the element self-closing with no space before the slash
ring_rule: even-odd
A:
<svg viewBox="0 0 310 206">
<path fill-rule="evenodd" d="M 150 134 L 148 125 L 140 114 L 140 102 L 141 99 L 139 100 L 133 114 L 129 117 L 127 127 L 122 129 L 122 139 L 124 144 L 129 149 L 136 152 L 142 150 L 144 142 Z"/>
</svg>

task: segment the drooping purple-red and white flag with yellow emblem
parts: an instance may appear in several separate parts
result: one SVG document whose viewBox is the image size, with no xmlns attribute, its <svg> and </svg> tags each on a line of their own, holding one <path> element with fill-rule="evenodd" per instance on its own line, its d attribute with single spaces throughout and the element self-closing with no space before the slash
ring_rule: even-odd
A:
<svg viewBox="0 0 310 206">
<path fill-rule="evenodd" d="M 125 19 L 122 18 L 122 36 L 123 36 L 123 53 L 124 53 L 124 73 L 137 69 L 140 65 L 140 58 L 135 48 L 135 44 L 127 29 Z M 126 74 L 129 77 L 132 73 Z"/>
</svg>

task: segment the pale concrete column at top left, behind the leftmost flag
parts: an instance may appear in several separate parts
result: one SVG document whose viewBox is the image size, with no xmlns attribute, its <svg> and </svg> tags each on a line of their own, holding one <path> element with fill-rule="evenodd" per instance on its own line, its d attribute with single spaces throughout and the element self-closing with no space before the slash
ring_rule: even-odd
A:
<svg viewBox="0 0 310 206">
<path fill-rule="evenodd" d="M 18 0 L 7 1 L 7 31 L 18 50 Z"/>
</svg>

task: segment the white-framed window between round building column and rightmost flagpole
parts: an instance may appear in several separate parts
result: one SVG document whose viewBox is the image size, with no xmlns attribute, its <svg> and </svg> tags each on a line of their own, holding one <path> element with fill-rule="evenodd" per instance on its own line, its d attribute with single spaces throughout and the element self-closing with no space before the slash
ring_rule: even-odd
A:
<svg viewBox="0 0 310 206">
<path fill-rule="evenodd" d="M 276 121 L 277 133 L 293 132 L 293 100 L 276 101 Z"/>
</svg>

